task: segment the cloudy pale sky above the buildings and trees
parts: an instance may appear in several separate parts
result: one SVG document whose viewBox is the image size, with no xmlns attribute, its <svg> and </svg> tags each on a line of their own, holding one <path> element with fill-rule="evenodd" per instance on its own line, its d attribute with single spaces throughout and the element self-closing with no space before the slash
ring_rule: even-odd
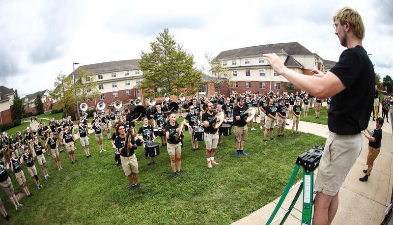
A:
<svg viewBox="0 0 393 225">
<path fill-rule="evenodd" d="M 61 2 L 61 3 L 60 3 Z M 363 46 L 376 72 L 393 75 L 392 0 L 138 1 L 0 0 L 0 85 L 20 96 L 53 89 L 56 76 L 88 65 L 137 59 L 164 28 L 206 65 L 205 52 L 299 42 L 324 59 L 344 50 L 333 12 L 356 8 L 365 23 Z M 192 3 L 191 3 L 192 2 Z"/>
</svg>

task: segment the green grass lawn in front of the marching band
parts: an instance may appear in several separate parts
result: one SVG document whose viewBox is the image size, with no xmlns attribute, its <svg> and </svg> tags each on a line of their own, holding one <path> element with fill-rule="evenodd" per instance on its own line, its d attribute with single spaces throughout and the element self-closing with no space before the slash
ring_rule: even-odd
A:
<svg viewBox="0 0 393 225">
<path fill-rule="evenodd" d="M 215 160 L 220 165 L 208 168 L 204 141 L 199 143 L 202 150 L 193 152 L 185 131 L 181 167 L 185 174 L 177 179 L 173 178 L 166 147 L 160 145 L 157 165 L 147 166 L 139 146 L 136 156 L 142 189 L 131 193 L 123 169 L 115 165 L 110 141 L 104 137 L 107 151 L 100 153 L 91 134 L 92 158 L 86 159 L 77 140 L 75 164 L 67 152 L 60 153 L 64 169 L 58 171 L 53 158 L 46 158 L 48 180 L 35 163 L 43 185 L 40 190 L 29 177 L 26 164 L 22 165 L 28 189 L 35 196 L 22 197 L 24 206 L 17 211 L 3 191 L 0 197 L 11 224 L 231 224 L 281 196 L 297 156 L 326 140 L 307 133 L 291 136 L 289 130 L 285 135 L 264 143 L 263 131 L 251 131 L 249 126 L 244 146 L 249 155 L 238 158 L 232 130 L 217 148 Z M 13 172 L 8 173 L 15 193 L 22 192 Z M 299 173 L 297 180 L 300 178 Z"/>
</svg>

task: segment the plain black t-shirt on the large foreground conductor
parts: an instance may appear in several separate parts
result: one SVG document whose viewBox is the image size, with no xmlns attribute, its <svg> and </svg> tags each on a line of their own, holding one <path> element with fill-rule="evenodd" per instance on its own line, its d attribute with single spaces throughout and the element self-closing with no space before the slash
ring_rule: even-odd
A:
<svg viewBox="0 0 393 225">
<path fill-rule="evenodd" d="M 346 88 L 332 96 L 329 130 L 340 135 L 359 134 L 368 126 L 374 102 L 375 75 L 372 62 L 365 49 L 358 45 L 344 50 L 330 71 Z"/>
</svg>

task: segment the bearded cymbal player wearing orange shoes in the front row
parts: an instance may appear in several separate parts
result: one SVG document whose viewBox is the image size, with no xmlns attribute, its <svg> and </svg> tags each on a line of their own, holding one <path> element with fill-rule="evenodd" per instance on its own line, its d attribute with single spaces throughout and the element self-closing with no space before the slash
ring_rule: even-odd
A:
<svg viewBox="0 0 393 225">
<path fill-rule="evenodd" d="M 220 122 L 221 118 L 214 118 L 217 114 L 214 110 L 214 105 L 211 102 L 206 104 L 207 111 L 202 114 L 202 122 L 205 132 L 205 144 L 206 144 L 206 159 L 207 159 L 207 167 L 211 168 L 212 164 L 219 165 L 216 161 L 214 161 L 214 155 L 216 153 L 217 143 L 218 143 L 218 132 L 217 129 L 213 128 L 213 124 L 215 122 Z"/>
</svg>

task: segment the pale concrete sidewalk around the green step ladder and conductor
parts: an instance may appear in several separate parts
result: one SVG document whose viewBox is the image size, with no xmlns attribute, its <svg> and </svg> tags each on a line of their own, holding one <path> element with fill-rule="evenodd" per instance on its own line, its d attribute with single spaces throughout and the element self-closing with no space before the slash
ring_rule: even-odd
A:
<svg viewBox="0 0 393 225">
<path fill-rule="evenodd" d="M 332 224 L 371 225 L 381 224 L 383 221 L 386 215 L 385 210 L 391 202 L 393 186 L 393 136 L 391 118 L 389 118 L 390 123 L 387 123 L 385 119 L 382 127 L 381 151 L 377 159 L 374 161 L 374 166 L 371 172 L 372 175 L 368 177 L 367 182 L 359 181 L 359 178 L 365 175 L 365 173 L 363 173 L 363 169 L 367 169 L 365 163 L 368 153 L 368 140 L 365 137 L 363 138 L 362 152 L 355 165 L 349 171 L 345 182 L 341 185 L 339 191 L 339 206 Z M 290 126 L 286 126 L 286 128 L 291 129 L 292 124 Z M 372 118 L 370 118 L 368 129 L 375 129 L 375 122 L 372 121 Z M 327 138 L 329 132 L 327 125 L 302 121 L 299 123 L 299 131 L 319 135 L 325 138 Z M 299 172 L 301 173 L 301 170 L 299 170 Z M 317 173 L 318 170 L 316 169 L 314 171 L 314 179 L 316 178 Z M 298 188 L 295 188 L 293 191 L 288 193 L 275 218 L 280 216 L 289 208 L 297 190 Z M 280 197 L 233 224 L 266 224 L 279 200 Z M 301 210 L 302 204 L 303 193 L 296 202 L 295 208 Z M 291 215 L 286 219 L 285 224 L 301 224 L 302 213 L 295 208 L 292 209 Z M 275 224 L 280 224 L 280 222 L 281 219 L 279 219 Z"/>
</svg>

